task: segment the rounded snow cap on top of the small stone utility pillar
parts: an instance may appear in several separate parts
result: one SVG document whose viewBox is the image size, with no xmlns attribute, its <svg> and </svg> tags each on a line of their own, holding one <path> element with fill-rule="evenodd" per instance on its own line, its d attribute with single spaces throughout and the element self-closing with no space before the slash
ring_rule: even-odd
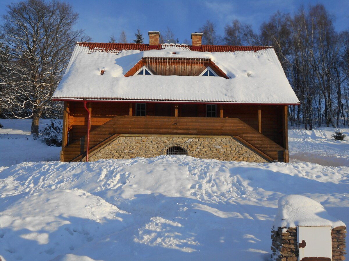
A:
<svg viewBox="0 0 349 261">
<path fill-rule="evenodd" d="M 279 199 L 273 229 L 295 228 L 297 226 L 332 228 L 345 224 L 330 216 L 317 201 L 300 195 L 286 195 Z"/>
</svg>

